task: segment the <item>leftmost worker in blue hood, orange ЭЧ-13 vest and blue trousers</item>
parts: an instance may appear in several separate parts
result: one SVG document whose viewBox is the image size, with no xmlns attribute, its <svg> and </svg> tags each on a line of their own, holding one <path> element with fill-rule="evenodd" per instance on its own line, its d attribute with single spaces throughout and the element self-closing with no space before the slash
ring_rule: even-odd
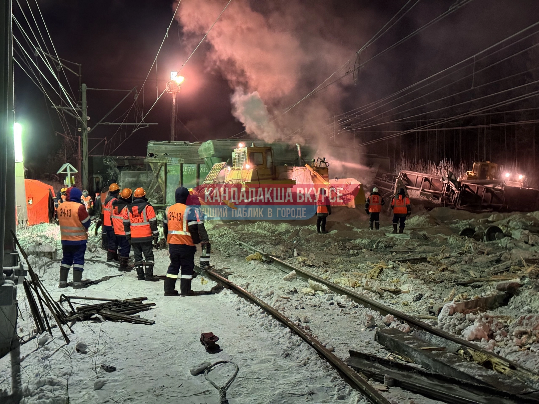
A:
<svg viewBox="0 0 539 404">
<path fill-rule="evenodd" d="M 67 287 L 67 276 L 73 266 L 73 288 L 82 287 L 82 271 L 84 270 L 84 253 L 88 240 L 90 217 L 80 197 L 78 188 L 71 187 L 66 191 L 69 198 L 58 207 L 58 221 L 62 243 L 62 262 L 60 264 L 59 288 Z"/>
</svg>

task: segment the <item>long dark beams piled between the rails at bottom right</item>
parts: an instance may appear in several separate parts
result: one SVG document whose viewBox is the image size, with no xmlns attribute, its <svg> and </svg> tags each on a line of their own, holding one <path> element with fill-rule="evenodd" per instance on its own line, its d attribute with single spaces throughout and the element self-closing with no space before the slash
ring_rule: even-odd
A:
<svg viewBox="0 0 539 404">
<path fill-rule="evenodd" d="M 539 375 L 507 367 L 506 360 L 497 360 L 495 354 L 487 358 L 480 351 L 421 330 L 404 333 L 385 328 L 377 330 L 375 338 L 391 351 L 386 358 L 351 350 L 345 362 L 388 387 L 450 404 L 539 402 Z"/>
</svg>

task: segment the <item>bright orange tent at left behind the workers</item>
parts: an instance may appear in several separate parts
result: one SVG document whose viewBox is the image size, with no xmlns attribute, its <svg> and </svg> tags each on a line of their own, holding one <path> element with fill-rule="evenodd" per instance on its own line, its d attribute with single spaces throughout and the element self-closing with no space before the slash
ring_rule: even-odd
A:
<svg viewBox="0 0 539 404">
<path fill-rule="evenodd" d="M 37 179 L 25 179 L 28 225 L 50 223 L 54 218 L 54 189 Z"/>
</svg>

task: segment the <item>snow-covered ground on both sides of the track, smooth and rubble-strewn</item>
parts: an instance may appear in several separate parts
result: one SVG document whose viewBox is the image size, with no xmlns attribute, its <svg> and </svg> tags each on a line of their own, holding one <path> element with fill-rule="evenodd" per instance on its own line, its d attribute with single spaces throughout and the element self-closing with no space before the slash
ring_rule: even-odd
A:
<svg viewBox="0 0 539 404">
<path fill-rule="evenodd" d="M 351 210 L 336 211 L 331 216 L 327 235 L 316 234 L 308 222 L 213 222 L 208 228 L 211 261 L 218 270 L 228 272 L 232 282 L 264 299 L 320 342 L 333 346 L 341 359 L 348 357 L 350 349 L 388 357 L 389 352 L 375 342 L 374 330 L 404 325 L 344 295 L 314 292 L 297 279 L 285 281 L 285 274 L 268 264 L 246 262 L 248 253 L 237 241 L 249 242 L 316 275 L 419 316 L 431 314 L 429 310 L 435 303 L 497 293 L 497 281 L 457 286 L 455 282 L 492 276 L 494 266 L 506 265 L 509 273 L 521 277 L 519 292 L 507 306 L 441 316 L 438 325 L 434 319 L 425 321 L 457 335 L 465 329 L 466 335 L 472 335 L 470 328 L 481 328 L 487 335 L 470 337 L 472 340 L 537 371 L 539 319 L 534 315 L 539 299 L 533 263 L 539 262 L 539 238 L 527 230 L 539 228 L 537 218 L 536 214 L 489 216 L 444 209 L 417 212 L 407 222 L 406 232 L 414 233 L 410 240 L 385 236 L 384 232 L 390 231 L 386 218 L 381 232 L 368 231 L 367 223 Z M 483 243 L 458 236 L 461 228 L 475 227 L 480 231 L 490 224 L 501 226 L 513 238 Z M 23 245 L 56 240 L 61 257 L 57 226 L 33 226 L 19 235 Z M 105 252 L 97 247 L 98 243 L 92 235 L 87 259 L 104 260 Z M 164 250 L 155 254 L 155 273 L 162 275 L 168 267 L 168 254 Z M 429 256 L 428 262 L 405 266 L 392 262 L 419 255 Z M 67 390 L 71 402 L 159 403 L 172 399 L 181 403 L 217 403 L 217 390 L 203 375 L 192 376 L 189 371 L 203 361 L 223 359 L 239 366 L 238 377 L 227 394 L 231 403 L 366 402 L 299 337 L 230 291 L 164 297 L 162 282 L 139 282 L 134 272 L 82 290 L 59 290 L 59 263 L 45 265 L 47 261 L 31 257 L 34 269 L 55 299 L 61 292 L 119 299 L 147 296 L 156 307 L 140 315 L 155 320 L 155 324 L 84 322 L 73 326 L 74 334 L 69 335 L 72 342 L 67 346 L 58 330 L 53 331 L 53 339 L 39 336 L 30 340 L 21 349 L 24 403 L 63 403 Z M 370 278 L 367 274 L 376 269 L 378 262 L 384 264 L 383 270 Z M 105 263 L 90 263 L 86 268 L 84 278 L 93 280 L 119 274 Z M 526 275 L 519 275 L 524 271 Z M 213 285 L 211 281 L 201 284 L 197 277 L 193 289 L 209 290 Z M 378 286 L 404 292 L 379 295 L 374 291 Z M 18 299 L 24 317 L 24 321 L 19 317 L 18 334 L 27 340 L 33 325 L 22 288 Z M 215 333 L 223 351 L 206 353 L 198 340 L 201 332 Z M 79 342 L 87 345 L 87 353 L 75 351 Z M 107 373 L 101 365 L 112 365 L 117 370 Z M 231 365 L 218 367 L 210 377 L 220 385 L 232 369 Z M 0 359 L 0 389 L 9 391 L 9 372 L 9 358 Z M 436 402 L 400 388 L 372 384 L 395 404 Z"/>
</svg>

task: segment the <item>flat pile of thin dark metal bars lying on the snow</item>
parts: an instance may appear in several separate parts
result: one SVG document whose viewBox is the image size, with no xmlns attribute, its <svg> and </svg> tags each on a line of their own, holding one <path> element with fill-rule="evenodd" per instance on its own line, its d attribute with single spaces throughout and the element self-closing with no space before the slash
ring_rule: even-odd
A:
<svg viewBox="0 0 539 404">
<path fill-rule="evenodd" d="M 94 300 L 102 301 L 104 303 L 97 304 L 81 304 L 79 307 L 74 308 L 72 300 Z M 134 324 L 155 324 L 155 321 L 141 318 L 140 316 L 134 316 L 141 311 L 149 310 L 155 306 L 155 303 L 142 303 L 148 300 L 147 297 L 135 297 L 130 299 L 107 299 L 103 297 L 84 297 L 84 296 L 65 296 L 61 295 L 59 303 L 67 302 L 70 305 L 71 312 L 66 317 L 67 321 L 87 321 L 101 316 L 107 320 L 112 321 L 126 321 Z"/>
</svg>

